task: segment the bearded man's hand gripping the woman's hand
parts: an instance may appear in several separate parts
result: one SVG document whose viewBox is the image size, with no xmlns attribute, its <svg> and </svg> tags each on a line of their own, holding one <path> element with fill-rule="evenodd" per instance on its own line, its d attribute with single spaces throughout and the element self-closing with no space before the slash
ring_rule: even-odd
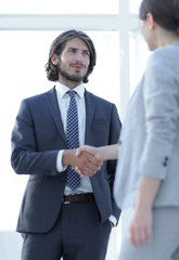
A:
<svg viewBox="0 0 179 260">
<path fill-rule="evenodd" d="M 82 151 L 77 156 L 76 150 L 65 150 L 62 156 L 62 165 L 71 165 L 80 177 L 93 176 L 102 166 L 100 156 Z M 80 169 L 80 170 L 78 170 Z"/>
</svg>

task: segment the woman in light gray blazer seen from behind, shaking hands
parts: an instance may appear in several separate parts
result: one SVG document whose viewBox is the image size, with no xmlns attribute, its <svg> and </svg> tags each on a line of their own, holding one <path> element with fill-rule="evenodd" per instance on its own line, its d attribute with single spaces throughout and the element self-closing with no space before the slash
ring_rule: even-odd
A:
<svg viewBox="0 0 179 260">
<path fill-rule="evenodd" d="M 114 194 L 122 219 L 130 212 L 119 260 L 178 260 L 179 0 L 143 0 L 140 20 L 153 53 L 119 141 Z M 84 150 L 112 159 L 118 145 Z"/>
</svg>

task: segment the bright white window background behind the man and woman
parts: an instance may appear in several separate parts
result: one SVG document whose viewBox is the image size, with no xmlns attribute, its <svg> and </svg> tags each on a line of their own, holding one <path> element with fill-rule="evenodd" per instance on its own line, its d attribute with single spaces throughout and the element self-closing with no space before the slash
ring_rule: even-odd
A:
<svg viewBox="0 0 179 260">
<path fill-rule="evenodd" d="M 10 164 L 11 131 L 22 99 L 53 87 L 44 65 L 51 42 L 62 31 L 87 32 L 97 49 L 97 66 L 85 87 L 116 104 L 122 121 L 146 60 L 140 36 L 141 0 L 5 0 L 0 9 L 0 259 L 20 260 L 15 226 L 27 177 Z M 111 234 L 106 260 L 117 260 L 120 224 Z"/>
</svg>

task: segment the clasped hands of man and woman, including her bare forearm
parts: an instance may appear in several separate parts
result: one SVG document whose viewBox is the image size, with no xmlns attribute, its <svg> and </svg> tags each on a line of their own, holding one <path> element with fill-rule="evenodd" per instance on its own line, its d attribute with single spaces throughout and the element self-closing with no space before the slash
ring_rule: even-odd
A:
<svg viewBox="0 0 179 260">
<path fill-rule="evenodd" d="M 104 160 L 117 158 L 118 144 L 101 147 L 84 145 L 76 150 L 65 150 L 62 156 L 62 165 L 71 165 L 80 177 L 90 177 L 101 169 Z"/>
</svg>

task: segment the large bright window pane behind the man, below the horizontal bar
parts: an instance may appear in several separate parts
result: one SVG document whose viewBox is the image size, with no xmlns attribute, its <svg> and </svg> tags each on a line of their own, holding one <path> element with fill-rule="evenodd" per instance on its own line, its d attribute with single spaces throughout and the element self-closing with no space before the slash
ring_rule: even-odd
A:
<svg viewBox="0 0 179 260">
<path fill-rule="evenodd" d="M 0 69 L 1 75 L 1 102 L 0 113 L 3 118 L 3 128 L 1 128 L 1 150 L 2 160 L 1 167 L 7 172 L 10 167 L 10 135 L 14 125 L 15 116 L 20 107 L 21 100 L 30 95 L 44 92 L 54 86 L 54 82 L 48 81 L 44 73 L 44 64 L 48 61 L 49 49 L 51 42 L 61 31 L 0 31 L 1 49 L 0 49 Z M 97 48 L 97 66 L 92 75 L 89 77 L 89 83 L 85 87 L 97 95 L 100 95 L 118 106 L 119 100 L 119 60 L 118 60 L 118 32 L 116 31 L 88 31 L 93 39 Z M 111 69 L 112 67 L 112 69 Z M 113 90 L 113 91 L 111 91 Z M 11 105 L 10 105 L 11 104 Z M 118 106 L 119 107 L 119 106 Z M 9 174 L 11 172 L 11 174 Z M 1 192 L 11 194 L 13 202 L 10 209 L 5 206 L 5 210 L 10 210 L 13 214 L 18 213 L 18 203 L 15 199 L 18 187 L 18 181 L 23 177 L 17 177 L 12 172 L 11 167 L 7 176 L 2 176 L 4 183 Z M 11 180 L 14 179 L 14 182 Z M 15 185 L 16 183 L 16 185 Z M 24 190 L 24 186 L 23 186 Z M 23 192 L 23 191 L 22 191 Z M 21 192 L 21 193 L 22 193 Z M 0 199 L 3 198 L 0 196 Z M 7 205 L 7 202 L 5 202 Z M 12 216 L 12 212 L 10 216 Z M 16 221 L 16 220 L 15 220 Z M 5 222 L 5 223 L 4 223 Z M 4 216 L 4 222 L 0 222 L 1 227 L 11 229 L 14 222 Z"/>
</svg>

